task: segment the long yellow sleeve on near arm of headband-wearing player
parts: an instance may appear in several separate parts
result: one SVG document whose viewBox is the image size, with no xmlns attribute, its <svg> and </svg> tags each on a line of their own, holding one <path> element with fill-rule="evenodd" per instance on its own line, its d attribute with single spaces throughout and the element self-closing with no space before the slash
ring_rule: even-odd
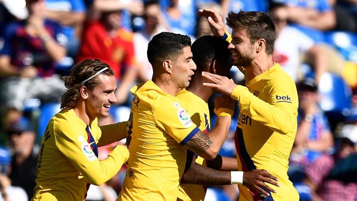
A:
<svg viewBox="0 0 357 201">
<path fill-rule="evenodd" d="M 112 178 L 129 158 L 129 151 L 124 146 L 117 146 L 104 161 L 99 161 L 93 152 L 86 152 L 90 147 L 87 142 L 80 142 L 76 129 L 62 127 L 55 131 L 56 146 L 86 180 L 94 185 L 101 185 Z"/>
</svg>

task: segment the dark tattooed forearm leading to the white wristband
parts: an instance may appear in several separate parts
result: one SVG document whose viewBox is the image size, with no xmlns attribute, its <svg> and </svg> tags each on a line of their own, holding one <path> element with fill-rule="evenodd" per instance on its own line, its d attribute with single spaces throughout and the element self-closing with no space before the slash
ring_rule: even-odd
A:
<svg viewBox="0 0 357 201">
<path fill-rule="evenodd" d="M 207 186 L 230 185 L 231 172 L 213 170 L 192 161 L 190 168 L 183 173 L 181 183 L 200 184 Z"/>
</svg>

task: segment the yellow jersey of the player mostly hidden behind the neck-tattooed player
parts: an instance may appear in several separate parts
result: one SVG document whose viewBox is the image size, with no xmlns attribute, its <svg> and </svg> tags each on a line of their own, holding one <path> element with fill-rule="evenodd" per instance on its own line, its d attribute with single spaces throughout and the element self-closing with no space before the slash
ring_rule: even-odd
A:
<svg viewBox="0 0 357 201">
<path fill-rule="evenodd" d="M 208 104 L 197 95 L 186 89 L 180 90 L 176 97 L 179 98 L 183 105 L 186 106 L 188 114 L 191 116 L 192 122 L 204 133 L 210 131 L 210 111 Z M 197 156 L 196 163 L 206 166 L 209 162 L 200 156 Z M 203 201 L 205 200 L 207 186 L 195 184 L 180 184 L 180 193 L 178 200 L 183 201 Z"/>
</svg>

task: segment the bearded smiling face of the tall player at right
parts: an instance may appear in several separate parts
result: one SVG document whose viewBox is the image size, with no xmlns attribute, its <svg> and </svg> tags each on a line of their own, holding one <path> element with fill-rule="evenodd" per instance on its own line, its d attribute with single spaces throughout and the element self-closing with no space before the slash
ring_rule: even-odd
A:
<svg viewBox="0 0 357 201">
<path fill-rule="evenodd" d="M 232 29 L 232 41 L 228 45 L 232 53 L 232 64 L 247 67 L 254 59 L 253 44 L 246 30 Z"/>
</svg>

